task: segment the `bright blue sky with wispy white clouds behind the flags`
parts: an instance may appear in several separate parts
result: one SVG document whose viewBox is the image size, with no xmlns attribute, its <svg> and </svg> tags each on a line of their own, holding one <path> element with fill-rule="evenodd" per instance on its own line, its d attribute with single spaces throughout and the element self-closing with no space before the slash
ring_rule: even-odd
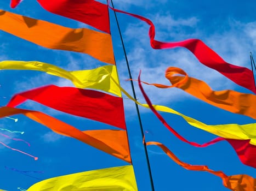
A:
<svg viewBox="0 0 256 191">
<path fill-rule="evenodd" d="M 105 3 L 105 1 L 101 1 Z M 160 41 L 180 41 L 188 38 L 198 38 L 216 51 L 225 61 L 251 68 L 249 52 L 255 53 L 256 45 L 256 16 L 254 1 L 225 2 L 217 1 L 113 1 L 115 8 L 130 13 L 139 14 L 152 20 L 156 26 L 156 39 Z M 71 28 L 87 27 L 83 23 L 53 15 L 43 10 L 36 1 L 24 0 L 16 8 L 9 8 L 9 1 L 1 1 L 0 8 L 14 13 L 47 20 Z M 148 29 L 144 22 L 127 15 L 117 14 L 126 45 L 126 51 L 133 78 L 136 79 L 139 70 L 142 71 L 141 80 L 168 84 L 164 78 L 164 71 L 169 66 L 180 67 L 191 77 L 206 81 L 214 90 L 234 89 L 251 93 L 235 85 L 217 71 L 209 69 L 197 61 L 194 55 L 186 49 L 176 48 L 168 50 L 153 50 L 149 44 Z M 111 34 L 113 48 L 120 75 L 121 85 L 131 92 L 126 63 L 123 55 L 120 37 L 117 32 L 115 18 L 110 10 Z M 93 69 L 104 65 L 96 59 L 82 53 L 49 50 L 0 32 L 0 59 L 41 61 L 58 65 L 66 70 Z M 73 86 L 71 82 L 37 71 L 0 71 L 0 105 L 5 105 L 15 94 L 27 89 L 55 84 L 58 86 Z M 144 85 L 146 93 L 153 104 L 166 105 L 187 116 L 207 124 L 227 123 L 255 123 L 252 118 L 231 114 L 215 108 L 209 104 L 180 91 L 179 89 L 157 89 Z M 145 103 L 138 86 L 135 84 L 136 94 L 141 103 Z M 125 97 L 125 96 L 124 96 Z M 129 144 L 132 152 L 138 189 L 150 190 L 149 177 L 143 152 L 138 117 L 132 101 L 124 99 Z M 66 115 L 62 112 L 46 108 L 33 102 L 26 102 L 19 106 L 32 110 L 43 111 L 81 130 L 104 129 L 109 126 L 90 121 L 81 117 Z M 146 141 L 162 142 L 183 162 L 198 165 L 208 165 L 212 170 L 222 170 L 226 175 L 248 174 L 256 177 L 255 169 L 243 165 L 235 151 L 227 142 L 196 148 L 181 142 L 173 136 L 150 110 L 140 108 L 141 119 Z M 204 143 L 215 138 L 214 135 L 189 126 L 181 117 L 172 114 L 162 114 L 167 122 L 177 132 L 190 141 Z M 21 153 L 8 150 L 0 146 L 0 189 L 17 190 L 17 187 L 29 188 L 38 180 L 7 170 L 4 166 L 19 170 L 44 171 L 43 174 L 33 176 L 46 179 L 54 176 L 75 172 L 108 168 L 111 166 L 127 165 L 120 159 L 87 146 L 80 141 L 65 138 L 51 132 L 48 128 L 29 120 L 24 116 L 14 122 L 2 118 L 0 128 L 24 131 L 23 135 L 8 134 L 13 138 L 20 138 L 30 142 L 31 147 L 18 141 L 0 138 L 13 148 L 31 153 L 39 158 L 38 161 Z M 113 128 L 113 127 L 111 127 Z M 148 146 L 149 160 L 152 170 L 155 190 L 228 190 L 222 185 L 219 177 L 207 172 L 188 171 L 175 164 L 160 148 Z"/>
</svg>

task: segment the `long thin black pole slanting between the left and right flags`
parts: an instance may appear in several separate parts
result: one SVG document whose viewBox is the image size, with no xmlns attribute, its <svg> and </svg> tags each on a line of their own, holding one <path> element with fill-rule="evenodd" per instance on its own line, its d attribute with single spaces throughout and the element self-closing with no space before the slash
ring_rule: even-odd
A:
<svg viewBox="0 0 256 191">
<path fill-rule="evenodd" d="M 115 9 L 112 0 L 111 0 L 111 4 L 112 4 L 112 7 Z M 129 78 L 133 79 L 132 74 L 130 73 L 130 67 L 129 67 L 129 62 L 128 62 L 128 58 L 127 58 L 126 48 L 124 47 L 123 37 L 122 37 L 121 29 L 120 29 L 120 26 L 119 26 L 119 22 L 117 20 L 116 11 L 114 11 L 114 14 L 115 14 L 116 23 L 117 23 L 118 31 L 119 31 L 119 34 L 120 34 L 120 38 L 121 38 L 121 41 L 122 41 L 124 57 L 126 58 L 126 65 L 127 65 L 127 69 L 128 69 L 128 73 L 129 73 Z M 132 80 L 130 80 L 130 85 L 132 86 L 133 98 L 136 100 L 136 94 L 135 94 L 135 89 L 134 89 L 134 85 L 133 85 Z M 140 118 L 140 111 L 139 111 L 138 104 L 135 103 L 135 107 L 136 107 L 136 112 L 137 112 L 138 120 L 139 120 L 139 124 L 140 124 L 140 132 L 141 132 L 141 135 L 143 136 L 143 140 L 144 140 L 144 131 L 143 131 L 143 126 L 142 126 L 142 122 L 141 122 L 141 118 Z M 144 152 L 145 152 L 145 155 L 146 155 L 147 169 L 149 170 L 151 188 L 152 188 L 152 191 L 155 191 L 155 188 L 154 188 L 154 185 L 153 185 L 153 178 L 152 178 L 152 174 L 151 174 L 150 163 L 149 163 L 149 155 L 147 154 L 147 146 L 146 146 L 145 141 L 143 141 L 143 146 L 144 146 Z"/>
</svg>

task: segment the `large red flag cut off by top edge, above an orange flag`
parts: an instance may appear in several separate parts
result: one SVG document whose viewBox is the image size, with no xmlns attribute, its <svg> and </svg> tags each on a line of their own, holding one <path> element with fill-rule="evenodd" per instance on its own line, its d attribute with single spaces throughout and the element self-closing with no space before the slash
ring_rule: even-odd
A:
<svg viewBox="0 0 256 191">
<path fill-rule="evenodd" d="M 68 17 L 110 33 L 109 9 L 106 4 L 93 0 L 37 0 L 51 13 Z"/>
</svg>

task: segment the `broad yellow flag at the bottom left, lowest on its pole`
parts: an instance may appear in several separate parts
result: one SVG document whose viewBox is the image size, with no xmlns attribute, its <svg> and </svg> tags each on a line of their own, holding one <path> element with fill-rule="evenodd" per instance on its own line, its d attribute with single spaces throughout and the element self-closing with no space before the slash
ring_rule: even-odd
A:
<svg viewBox="0 0 256 191">
<path fill-rule="evenodd" d="M 137 191 L 132 165 L 118 166 L 107 169 L 78 172 L 76 174 L 49 178 L 33 184 L 27 191 Z"/>
</svg>

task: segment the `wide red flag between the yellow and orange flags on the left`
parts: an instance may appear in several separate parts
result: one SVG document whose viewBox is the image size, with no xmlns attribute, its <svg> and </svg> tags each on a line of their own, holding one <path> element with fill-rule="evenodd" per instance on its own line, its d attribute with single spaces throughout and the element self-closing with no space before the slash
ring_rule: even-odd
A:
<svg viewBox="0 0 256 191">
<path fill-rule="evenodd" d="M 27 99 L 67 114 L 126 129 L 123 99 L 120 97 L 91 89 L 48 85 L 15 94 L 7 106 L 15 107 Z"/>
</svg>

